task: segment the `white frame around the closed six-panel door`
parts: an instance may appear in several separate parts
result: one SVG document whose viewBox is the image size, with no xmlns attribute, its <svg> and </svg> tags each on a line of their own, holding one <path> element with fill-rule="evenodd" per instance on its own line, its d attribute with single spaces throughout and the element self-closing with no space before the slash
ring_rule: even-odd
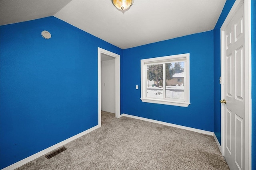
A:
<svg viewBox="0 0 256 170">
<path fill-rule="evenodd" d="M 236 0 L 232 6 L 226 20 L 220 28 L 221 34 L 221 99 L 224 99 L 224 28 L 228 25 L 232 17 L 234 16 L 236 10 L 244 2 L 244 74 L 245 74 L 245 91 L 244 91 L 244 167 L 245 169 L 252 169 L 252 58 L 251 58 L 251 2 L 249 0 Z M 226 136 L 225 136 L 225 114 L 224 114 L 224 105 L 221 105 L 221 151 L 224 156 L 224 146 L 226 145 Z"/>
</svg>

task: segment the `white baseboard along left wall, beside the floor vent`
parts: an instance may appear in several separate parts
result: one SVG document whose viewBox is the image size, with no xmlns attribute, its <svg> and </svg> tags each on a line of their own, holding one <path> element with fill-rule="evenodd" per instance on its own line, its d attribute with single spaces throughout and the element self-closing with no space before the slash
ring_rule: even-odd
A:
<svg viewBox="0 0 256 170">
<path fill-rule="evenodd" d="M 55 149 L 57 149 L 59 147 L 62 147 L 63 145 L 65 145 L 65 144 L 67 144 L 67 143 L 69 143 L 69 142 L 71 142 L 71 141 L 73 141 L 73 140 L 75 140 L 75 139 L 77 139 L 79 137 L 82 137 L 83 135 L 85 135 L 85 134 L 87 134 L 87 133 L 89 133 L 91 131 L 94 131 L 95 129 L 98 129 L 98 128 L 99 128 L 99 125 L 96 125 L 96 126 L 90 128 L 90 129 L 88 129 L 86 131 L 83 131 L 81 133 L 78 133 L 77 135 L 74 135 L 74 136 L 72 136 L 72 137 L 70 137 L 70 138 L 68 138 L 68 139 L 66 139 L 66 140 L 64 140 L 64 141 L 62 141 L 60 143 L 57 143 L 57 144 L 55 144 L 55 145 L 53 145 L 53 146 L 51 146 L 49 148 L 46 148 L 46 149 L 44 149 L 44 150 L 42 150 L 40 152 L 37 152 L 36 154 L 33 154 L 33 155 L 31 155 L 31 156 L 29 156 L 29 157 L 27 157 L 25 159 L 22 159 L 19 162 L 16 162 L 16 163 L 14 163 L 14 164 L 12 164 L 10 166 L 7 166 L 6 168 L 4 168 L 2 170 L 14 170 L 14 169 L 16 169 L 16 168 L 18 168 L 18 167 L 20 167 L 20 166 L 22 166 L 22 165 L 32 161 L 32 160 L 34 160 L 36 158 L 39 158 L 40 156 L 43 156 L 44 154 L 47 154 L 48 152 L 51 152 L 52 150 L 55 150 Z"/>
</svg>

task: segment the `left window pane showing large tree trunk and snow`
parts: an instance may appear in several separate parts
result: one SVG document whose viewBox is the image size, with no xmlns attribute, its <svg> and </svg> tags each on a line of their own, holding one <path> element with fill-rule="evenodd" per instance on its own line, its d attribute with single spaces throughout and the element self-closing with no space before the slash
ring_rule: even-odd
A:
<svg viewBox="0 0 256 170">
<path fill-rule="evenodd" d="M 147 65 L 147 93 L 149 98 L 163 98 L 163 64 Z"/>
</svg>

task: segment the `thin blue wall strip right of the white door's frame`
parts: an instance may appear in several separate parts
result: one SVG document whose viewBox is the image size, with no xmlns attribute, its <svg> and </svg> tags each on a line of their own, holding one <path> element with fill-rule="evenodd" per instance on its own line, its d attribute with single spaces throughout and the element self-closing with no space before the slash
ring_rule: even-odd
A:
<svg viewBox="0 0 256 170">
<path fill-rule="evenodd" d="M 256 1 L 251 1 L 252 30 L 252 170 L 256 170 Z"/>
</svg>

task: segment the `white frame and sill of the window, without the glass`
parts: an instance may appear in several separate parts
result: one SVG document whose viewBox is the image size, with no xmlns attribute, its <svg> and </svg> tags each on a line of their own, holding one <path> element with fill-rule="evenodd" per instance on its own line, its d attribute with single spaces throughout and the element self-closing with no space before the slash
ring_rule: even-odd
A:
<svg viewBox="0 0 256 170">
<path fill-rule="evenodd" d="M 188 107 L 190 105 L 190 74 L 189 74 L 189 56 L 190 53 L 170 55 L 164 57 L 155 57 L 151 59 L 140 60 L 140 74 L 141 74 L 141 100 L 142 102 L 165 104 L 172 106 Z M 170 98 L 150 98 L 146 96 L 147 93 L 147 65 L 148 64 L 165 64 L 170 62 L 184 62 L 184 99 L 170 99 Z M 163 67 L 163 72 L 165 68 Z M 163 80 L 163 92 L 165 91 L 165 80 Z M 165 92 L 164 92 L 165 93 Z M 163 95 L 165 96 L 165 95 Z"/>
</svg>

